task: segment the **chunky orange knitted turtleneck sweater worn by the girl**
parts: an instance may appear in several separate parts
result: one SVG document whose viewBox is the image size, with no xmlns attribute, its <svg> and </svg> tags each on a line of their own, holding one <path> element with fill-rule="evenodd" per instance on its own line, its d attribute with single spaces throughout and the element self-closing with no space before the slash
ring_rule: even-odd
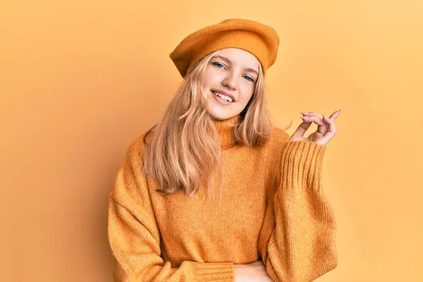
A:
<svg viewBox="0 0 423 282">
<path fill-rule="evenodd" d="M 235 145 L 238 116 L 214 121 L 223 190 L 156 191 L 132 142 L 109 200 L 115 281 L 234 281 L 234 264 L 262 260 L 274 281 L 312 281 L 337 265 L 336 221 L 321 183 L 326 146 L 272 128 L 260 148 Z M 219 204 L 219 198 L 221 202 Z"/>
</svg>

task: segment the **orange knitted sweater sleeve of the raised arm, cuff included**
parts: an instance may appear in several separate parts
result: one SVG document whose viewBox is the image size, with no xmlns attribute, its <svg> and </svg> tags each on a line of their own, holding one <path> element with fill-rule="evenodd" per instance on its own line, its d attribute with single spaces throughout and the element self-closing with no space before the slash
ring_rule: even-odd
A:
<svg viewBox="0 0 423 282">
<path fill-rule="evenodd" d="M 259 241 L 266 271 L 276 282 L 313 281 L 338 264 L 336 221 L 321 185 L 325 151 L 317 142 L 283 144 L 281 176 L 266 210 L 265 239 Z"/>
</svg>

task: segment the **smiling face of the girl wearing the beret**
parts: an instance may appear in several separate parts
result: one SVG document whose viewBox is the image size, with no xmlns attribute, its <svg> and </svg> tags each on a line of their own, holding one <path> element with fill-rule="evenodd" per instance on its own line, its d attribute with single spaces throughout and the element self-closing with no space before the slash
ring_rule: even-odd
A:
<svg viewBox="0 0 423 282">
<path fill-rule="evenodd" d="M 250 52 L 238 48 L 221 49 L 202 74 L 207 112 L 218 120 L 240 114 L 254 93 L 258 73 L 259 60 Z"/>
</svg>

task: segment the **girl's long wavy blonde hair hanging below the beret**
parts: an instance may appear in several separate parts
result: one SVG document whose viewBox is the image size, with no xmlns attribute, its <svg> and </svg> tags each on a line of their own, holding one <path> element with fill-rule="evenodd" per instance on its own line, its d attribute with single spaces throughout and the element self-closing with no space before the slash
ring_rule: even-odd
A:
<svg viewBox="0 0 423 282">
<path fill-rule="evenodd" d="M 222 186 L 219 133 L 213 118 L 207 113 L 201 80 L 204 69 L 217 53 L 219 50 L 204 56 L 192 68 L 159 123 L 145 133 L 143 171 L 159 181 L 161 188 L 157 191 L 165 195 L 182 189 L 185 195 L 192 196 L 202 185 L 206 185 L 208 198 L 218 168 L 219 186 Z M 262 66 L 259 65 L 255 92 L 233 128 L 235 144 L 257 147 L 269 140 L 274 122 L 271 120 L 265 93 Z"/>
</svg>

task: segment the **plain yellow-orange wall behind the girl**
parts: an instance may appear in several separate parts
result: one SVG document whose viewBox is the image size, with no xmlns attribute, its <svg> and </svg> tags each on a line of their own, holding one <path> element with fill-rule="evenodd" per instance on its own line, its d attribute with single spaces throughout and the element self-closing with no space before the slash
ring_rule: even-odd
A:
<svg viewBox="0 0 423 282">
<path fill-rule="evenodd" d="M 180 83 L 168 54 L 226 18 L 281 37 L 266 84 L 288 133 L 342 109 L 323 168 L 339 264 L 317 281 L 423 281 L 422 15 L 419 0 L 1 1 L 0 281 L 112 281 L 123 154 Z"/>
</svg>

